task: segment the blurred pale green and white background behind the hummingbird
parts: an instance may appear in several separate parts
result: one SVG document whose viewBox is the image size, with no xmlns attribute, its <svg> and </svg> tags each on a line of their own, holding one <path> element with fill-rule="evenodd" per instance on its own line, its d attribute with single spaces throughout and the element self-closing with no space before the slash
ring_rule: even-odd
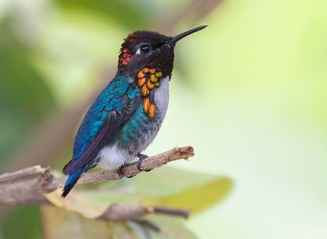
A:
<svg viewBox="0 0 327 239">
<path fill-rule="evenodd" d="M 167 117 L 146 151 L 191 145 L 174 167 L 233 181 L 188 228 L 327 238 L 326 12 L 323 0 L 0 0 L 0 172 L 62 168 L 130 32 L 205 24 L 176 46 Z M 0 237 L 42 238 L 38 206 L 0 210 Z"/>
</svg>

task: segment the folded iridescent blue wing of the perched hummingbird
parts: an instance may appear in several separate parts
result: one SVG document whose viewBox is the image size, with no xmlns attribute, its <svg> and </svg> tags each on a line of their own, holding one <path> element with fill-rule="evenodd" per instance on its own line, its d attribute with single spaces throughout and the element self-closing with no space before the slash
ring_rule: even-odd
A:
<svg viewBox="0 0 327 239">
<path fill-rule="evenodd" d="M 126 79 L 114 78 L 86 113 L 75 137 L 73 159 L 64 167 L 72 174 L 93 160 L 115 137 L 141 103 L 140 90 Z"/>
</svg>

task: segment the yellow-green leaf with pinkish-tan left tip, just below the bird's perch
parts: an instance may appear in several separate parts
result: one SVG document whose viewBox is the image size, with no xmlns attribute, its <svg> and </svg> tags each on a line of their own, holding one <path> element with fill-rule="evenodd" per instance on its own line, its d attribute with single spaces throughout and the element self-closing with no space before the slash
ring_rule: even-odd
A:
<svg viewBox="0 0 327 239">
<path fill-rule="evenodd" d="M 91 189 L 73 189 L 65 199 L 61 198 L 61 189 L 45 197 L 53 205 L 87 218 L 100 216 L 113 203 L 161 205 L 198 212 L 222 200 L 231 186 L 227 177 L 162 167 Z"/>
</svg>

